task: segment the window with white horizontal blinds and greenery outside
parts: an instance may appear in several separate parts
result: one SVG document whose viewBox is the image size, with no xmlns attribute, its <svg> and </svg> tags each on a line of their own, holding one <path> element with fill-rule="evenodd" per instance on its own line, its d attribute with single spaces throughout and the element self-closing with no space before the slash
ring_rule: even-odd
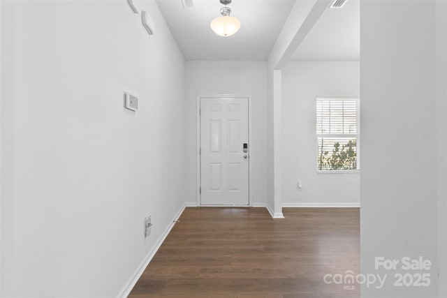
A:
<svg viewBox="0 0 447 298">
<path fill-rule="evenodd" d="M 317 98 L 318 171 L 359 169 L 359 100 Z"/>
</svg>

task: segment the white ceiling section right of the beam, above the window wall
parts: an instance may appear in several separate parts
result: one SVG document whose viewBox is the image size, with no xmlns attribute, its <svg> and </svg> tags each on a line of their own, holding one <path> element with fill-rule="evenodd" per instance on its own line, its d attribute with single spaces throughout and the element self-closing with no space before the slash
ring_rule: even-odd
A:
<svg viewBox="0 0 447 298">
<path fill-rule="evenodd" d="M 360 61 L 360 1 L 326 9 L 291 60 Z"/>
</svg>

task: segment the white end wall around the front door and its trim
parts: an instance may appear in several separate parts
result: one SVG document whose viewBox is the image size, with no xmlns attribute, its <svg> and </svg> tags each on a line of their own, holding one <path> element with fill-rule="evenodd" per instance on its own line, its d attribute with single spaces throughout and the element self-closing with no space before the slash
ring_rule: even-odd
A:
<svg viewBox="0 0 447 298">
<path fill-rule="evenodd" d="M 267 199 L 267 64 L 263 61 L 187 61 L 185 121 L 185 202 L 196 202 L 197 96 L 237 94 L 251 96 L 254 203 Z"/>
</svg>

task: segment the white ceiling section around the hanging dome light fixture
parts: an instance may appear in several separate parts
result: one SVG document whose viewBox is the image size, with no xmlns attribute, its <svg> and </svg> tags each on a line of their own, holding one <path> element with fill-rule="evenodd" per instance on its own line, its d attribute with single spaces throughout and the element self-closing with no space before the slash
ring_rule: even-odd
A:
<svg viewBox="0 0 447 298">
<path fill-rule="evenodd" d="M 186 60 L 267 60 L 295 0 L 233 0 L 231 15 L 242 25 L 228 37 L 210 28 L 221 16 L 219 0 L 196 0 L 186 8 L 181 0 L 157 3 Z"/>
</svg>

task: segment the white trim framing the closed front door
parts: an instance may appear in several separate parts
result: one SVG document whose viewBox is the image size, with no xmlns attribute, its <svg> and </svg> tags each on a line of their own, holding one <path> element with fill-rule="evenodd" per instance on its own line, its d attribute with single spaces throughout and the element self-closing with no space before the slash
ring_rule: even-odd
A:
<svg viewBox="0 0 447 298">
<path fill-rule="evenodd" d="M 196 202 L 200 204 L 200 100 L 205 98 L 248 98 L 249 100 L 249 207 L 253 207 L 253 140 L 252 140 L 252 115 L 251 115 L 251 96 L 238 94 L 212 94 L 197 96 L 196 100 Z M 222 205 L 219 205 L 221 207 Z M 223 205 L 224 206 L 224 205 Z"/>
</svg>

